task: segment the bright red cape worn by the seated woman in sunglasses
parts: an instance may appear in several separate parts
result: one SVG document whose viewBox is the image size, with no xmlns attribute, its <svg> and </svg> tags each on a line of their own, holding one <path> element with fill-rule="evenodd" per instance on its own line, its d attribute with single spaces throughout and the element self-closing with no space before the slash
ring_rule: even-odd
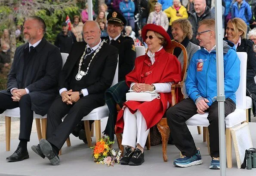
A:
<svg viewBox="0 0 256 176">
<path fill-rule="evenodd" d="M 130 87 L 132 82 L 138 83 L 163 83 L 181 81 L 181 65 L 178 59 L 161 49 L 155 52 L 155 62 L 151 65 L 148 55 L 143 55 L 135 60 L 135 68 L 126 75 L 126 84 Z M 171 105 L 171 93 L 159 93 L 160 99 L 150 102 L 127 101 L 124 108 L 128 107 L 133 114 L 140 110 L 146 120 L 147 127 L 150 128 L 157 124 L 167 110 L 167 102 Z M 123 132 L 123 109 L 117 115 L 116 133 Z"/>
</svg>

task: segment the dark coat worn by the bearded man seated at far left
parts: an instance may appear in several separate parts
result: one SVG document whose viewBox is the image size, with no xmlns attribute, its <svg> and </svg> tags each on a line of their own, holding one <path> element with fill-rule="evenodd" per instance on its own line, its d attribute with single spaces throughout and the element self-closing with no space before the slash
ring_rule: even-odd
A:
<svg viewBox="0 0 256 176">
<path fill-rule="evenodd" d="M 28 43 L 16 49 L 8 75 L 7 90 L 0 92 L 12 96 L 12 88 L 28 88 L 32 102 L 31 110 L 45 115 L 56 97 L 62 57 L 59 49 L 43 38 L 34 48 L 33 57 L 25 65 L 28 49 Z"/>
</svg>

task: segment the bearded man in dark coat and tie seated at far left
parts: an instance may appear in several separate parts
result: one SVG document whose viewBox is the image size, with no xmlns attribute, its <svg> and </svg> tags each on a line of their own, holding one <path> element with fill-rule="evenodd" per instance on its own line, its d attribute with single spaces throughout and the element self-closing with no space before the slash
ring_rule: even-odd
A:
<svg viewBox="0 0 256 176">
<path fill-rule="evenodd" d="M 7 161 L 28 159 L 33 111 L 45 115 L 56 97 L 62 57 L 59 49 L 43 38 L 46 25 L 42 18 L 29 17 L 24 23 L 24 40 L 14 55 L 7 90 L 0 91 L 0 113 L 20 108 L 19 146 Z"/>
</svg>

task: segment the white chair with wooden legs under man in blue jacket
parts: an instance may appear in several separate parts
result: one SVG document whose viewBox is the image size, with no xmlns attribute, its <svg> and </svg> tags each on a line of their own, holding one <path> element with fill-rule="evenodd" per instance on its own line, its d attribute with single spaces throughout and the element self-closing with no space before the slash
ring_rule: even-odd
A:
<svg viewBox="0 0 256 176">
<path fill-rule="evenodd" d="M 227 153 L 227 165 L 228 168 L 232 167 L 232 144 L 231 144 L 231 133 L 230 129 L 237 124 L 244 123 L 246 121 L 246 70 L 247 70 L 247 53 L 237 52 L 238 58 L 241 61 L 240 64 L 240 83 L 236 91 L 236 109 L 225 118 L 226 123 L 226 153 Z M 206 132 L 208 152 L 210 155 L 209 146 L 209 121 L 207 119 L 208 112 L 203 115 L 196 114 L 186 121 L 187 125 L 190 126 L 202 126 Z"/>
</svg>

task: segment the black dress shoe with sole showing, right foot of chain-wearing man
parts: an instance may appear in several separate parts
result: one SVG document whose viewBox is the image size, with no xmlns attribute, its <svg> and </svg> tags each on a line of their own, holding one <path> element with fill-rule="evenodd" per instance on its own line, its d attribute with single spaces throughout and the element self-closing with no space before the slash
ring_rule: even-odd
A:
<svg viewBox="0 0 256 176">
<path fill-rule="evenodd" d="M 52 145 L 45 139 L 39 142 L 40 149 L 44 156 L 46 156 L 52 165 L 59 165 L 59 157 L 53 152 Z"/>
</svg>

